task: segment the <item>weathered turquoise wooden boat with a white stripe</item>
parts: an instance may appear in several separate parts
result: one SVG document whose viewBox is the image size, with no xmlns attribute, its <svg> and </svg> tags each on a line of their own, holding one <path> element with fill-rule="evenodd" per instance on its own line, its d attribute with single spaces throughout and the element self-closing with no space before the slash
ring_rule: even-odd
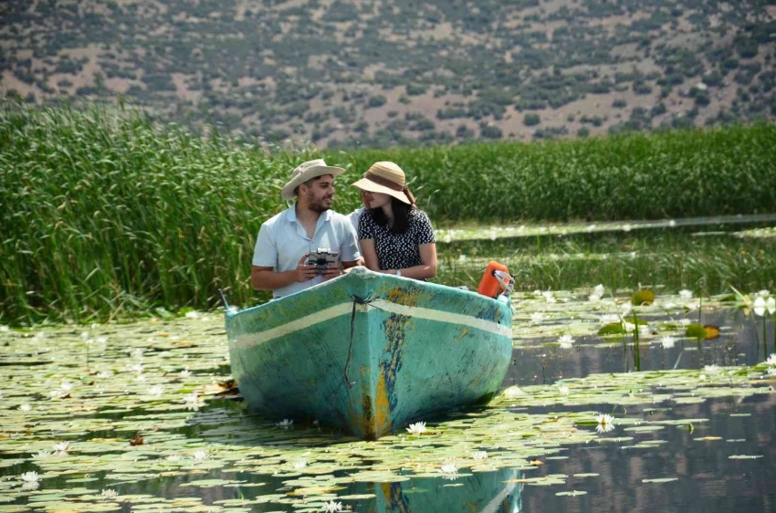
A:
<svg viewBox="0 0 776 513">
<path fill-rule="evenodd" d="M 247 403 L 366 439 L 487 403 L 509 367 L 511 324 L 508 303 L 364 267 L 226 314 Z"/>
</svg>

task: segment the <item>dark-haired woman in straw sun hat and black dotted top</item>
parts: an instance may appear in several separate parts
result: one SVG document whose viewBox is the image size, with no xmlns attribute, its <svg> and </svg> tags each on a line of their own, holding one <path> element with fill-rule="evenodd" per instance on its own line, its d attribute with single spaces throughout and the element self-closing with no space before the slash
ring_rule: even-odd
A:
<svg viewBox="0 0 776 513">
<path fill-rule="evenodd" d="M 362 190 L 368 207 L 358 227 L 366 267 L 414 279 L 434 277 L 434 228 L 428 215 L 415 208 L 402 168 L 375 162 L 353 186 Z"/>
</svg>

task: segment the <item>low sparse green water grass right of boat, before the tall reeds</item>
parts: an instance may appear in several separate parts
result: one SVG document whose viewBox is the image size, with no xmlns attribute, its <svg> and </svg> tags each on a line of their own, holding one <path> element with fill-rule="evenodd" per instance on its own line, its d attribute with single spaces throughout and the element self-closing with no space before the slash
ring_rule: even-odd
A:
<svg viewBox="0 0 776 513">
<path fill-rule="evenodd" d="M 440 245 L 437 279 L 477 288 L 490 259 L 507 265 L 519 290 L 602 283 L 616 291 L 644 286 L 703 294 L 776 287 L 776 240 L 683 231 L 471 241 Z"/>
</svg>

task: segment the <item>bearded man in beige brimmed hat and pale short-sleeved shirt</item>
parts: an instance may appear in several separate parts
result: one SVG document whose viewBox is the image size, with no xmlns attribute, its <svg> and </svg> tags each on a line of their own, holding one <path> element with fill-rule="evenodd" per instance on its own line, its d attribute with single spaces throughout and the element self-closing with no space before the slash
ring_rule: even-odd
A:
<svg viewBox="0 0 776 513">
<path fill-rule="evenodd" d="M 297 202 L 275 215 L 258 231 L 251 266 L 251 287 L 272 290 L 281 298 L 341 275 L 330 266 L 322 275 L 305 262 L 310 252 L 326 248 L 339 252 L 342 267 L 359 264 L 358 237 L 350 220 L 330 210 L 334 178 L 344 173 L 323 159 L 303 162 L 291 172 L 283 199 Z"/>
</svg>

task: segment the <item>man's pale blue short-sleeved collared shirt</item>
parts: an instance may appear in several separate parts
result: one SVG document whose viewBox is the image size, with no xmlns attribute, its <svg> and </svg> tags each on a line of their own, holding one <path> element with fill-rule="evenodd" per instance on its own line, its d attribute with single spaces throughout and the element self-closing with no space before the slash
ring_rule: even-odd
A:
<svg viewBox="0 0 776 513">
<path fill-rule="evenodd" d="M 338 251 L 340 260 L 344 262 L 353 262 L 361 257 L 358 237 L 348 217 L 330 210 L 320 213 L 315 233 L 310 238 L 297 219 L 296 206 L 291 205 L 288 210 L 261 225 L 253 251 L 254 266 L 274 267 L 276 272 L 290 271 L 297 268 L 299 259 L 305 253 L 322 248 Z M 278 288 L 273 292 L 273 296 L 288 296 L 322 282 L 323 277 L 320 276 L 308 281 L 294 282 Z"/>
</svg>

